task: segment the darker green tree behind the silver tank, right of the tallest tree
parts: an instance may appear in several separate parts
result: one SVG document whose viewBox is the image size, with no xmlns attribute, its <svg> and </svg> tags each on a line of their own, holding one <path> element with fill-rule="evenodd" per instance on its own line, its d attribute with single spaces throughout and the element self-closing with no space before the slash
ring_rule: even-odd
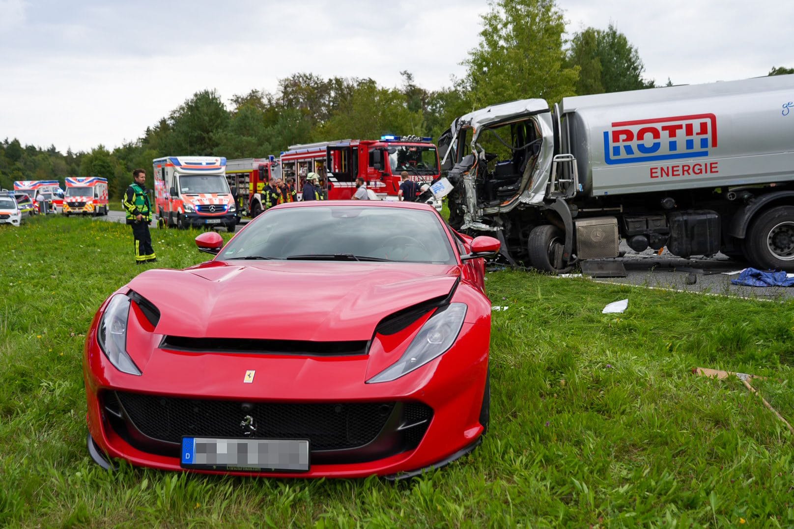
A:
<svg viewBox="0 0 794 529">
<path fill-rule="evenodd" d="M 601 94 L 642 90 L 655 86 L 642 79 L 645 65 L 639 53 L 614 25 L 607 29 L 584 29 L 571 40 L 568 64 L 580 68 L 576 93 Z"/>
</svg>

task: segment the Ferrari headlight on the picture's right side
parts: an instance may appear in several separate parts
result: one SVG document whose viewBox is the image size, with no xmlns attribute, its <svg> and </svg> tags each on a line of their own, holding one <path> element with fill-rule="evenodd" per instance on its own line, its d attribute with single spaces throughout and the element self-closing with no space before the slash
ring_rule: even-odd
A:
<svg viewBox="0 0 794 529">
<path fill-rule="evenodd" d="M 463 319 L 466 317 L 465 303 L 450 303 L 437 311 L 419 330 L 410 342 L 403 356 L 376 376 L 367 380 L 367 384 L 391 382 L 400 376 L 422 367 L 427 362 L 440 357 L 452 347 L 461 333 Z"/>
</svg>

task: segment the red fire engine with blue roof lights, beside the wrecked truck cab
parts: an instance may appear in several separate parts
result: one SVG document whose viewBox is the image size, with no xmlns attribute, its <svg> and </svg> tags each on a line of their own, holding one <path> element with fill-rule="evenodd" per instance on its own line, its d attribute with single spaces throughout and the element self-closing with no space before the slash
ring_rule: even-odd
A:
<svg viewBox="0 0 794 529">
<path fill-rule="evenodd" d="M 380 140 L 321 141 L 291 145 L 281 153 L 284 178 L 295 178 L 300 193 L 306 175 L 316 172 L 326 179 L 330 200 L 350 199 L 361 177 L 379 199 L 397 200 L 400 173 L 418 183 L 439 176 L 438 153 L 431 137 L 382 136 Z"/>
</svg>

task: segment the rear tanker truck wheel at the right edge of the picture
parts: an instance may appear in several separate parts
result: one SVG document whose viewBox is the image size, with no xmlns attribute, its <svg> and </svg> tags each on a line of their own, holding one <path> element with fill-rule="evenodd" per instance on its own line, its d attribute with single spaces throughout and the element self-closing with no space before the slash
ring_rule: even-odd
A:
<svg viewBox="0 0 794 529">
<path fill-rule="evenodd" d="M 760 214 L 750 225 L 745 244 L 756 268 L 794 272 L 794 206 Z"/>
</svg>

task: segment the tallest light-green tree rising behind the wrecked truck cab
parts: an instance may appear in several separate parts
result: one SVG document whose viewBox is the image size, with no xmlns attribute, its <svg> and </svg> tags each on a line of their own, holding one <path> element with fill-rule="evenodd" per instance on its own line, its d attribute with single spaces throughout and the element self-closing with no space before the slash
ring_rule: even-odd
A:
<svg viewBox="0 0 794 529">
<path fill-rule="evenodd" d="M 565 64 L 565 20 L 553 0 L 491 0 L 489 6 L 480 43 L 463 62 L 472 106 L 573 95 L 578 67 Z"/>
</svg>

